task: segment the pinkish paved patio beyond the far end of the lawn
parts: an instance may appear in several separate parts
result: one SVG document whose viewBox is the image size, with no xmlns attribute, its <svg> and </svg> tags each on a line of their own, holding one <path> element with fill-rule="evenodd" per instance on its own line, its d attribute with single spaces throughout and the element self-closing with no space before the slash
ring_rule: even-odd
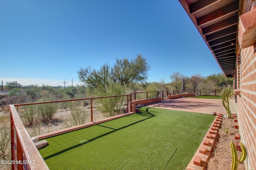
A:
<svg viewBox="0 0 256 170">
<path fill-rule="evenodd" d="M 177 98 L 162 100 L 145 106 L 206 114 L 212 114 L 213 111 L 217 114 L 226 114 L 221 99 Z M 230 110 L 231 113 L 236 113 L 234 99 L 230 99 Z"/>
</svg>

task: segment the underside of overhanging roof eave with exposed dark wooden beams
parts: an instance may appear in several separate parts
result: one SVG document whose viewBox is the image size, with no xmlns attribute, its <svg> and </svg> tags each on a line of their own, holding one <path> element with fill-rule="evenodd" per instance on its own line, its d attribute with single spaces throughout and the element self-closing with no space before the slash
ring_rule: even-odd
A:
<svg viewBox="0 0 256 170">
<path fill-rule="evenodd" d="M 227 77 L 236 67 L 241 0 L 179 0 Z"/>
</svg>

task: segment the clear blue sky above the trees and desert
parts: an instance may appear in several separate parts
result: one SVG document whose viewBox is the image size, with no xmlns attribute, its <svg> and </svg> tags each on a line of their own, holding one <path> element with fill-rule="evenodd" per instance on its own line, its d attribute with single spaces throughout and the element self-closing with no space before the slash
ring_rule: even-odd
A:
<svg viewBox="0 0 256 170">
<path fill-rule="evenodd" d="M 222 72 L 178 0 L 1 0 L 0 80 L 80 84 L 77 71 L 145 57 L 148 82 Z"/>
</svg>

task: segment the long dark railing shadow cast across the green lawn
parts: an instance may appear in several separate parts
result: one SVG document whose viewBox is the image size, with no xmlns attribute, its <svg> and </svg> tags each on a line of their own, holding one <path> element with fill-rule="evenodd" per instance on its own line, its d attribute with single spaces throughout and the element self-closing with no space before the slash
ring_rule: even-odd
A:
<svg viewBox="0 0 256 170">
<path fill-rule="evenodd" d="M 62 151 L 60 151 L 60 152 L 56 152 L 56 153 L 54 153 L 54 154 L 52 154 L 52 155 L 46 156 L 46 157 L 44 157 L 44 160 L 47 160 L 47 159 L 52 158 L 52 157 L 54 157 L 54 156 L 57 156 L 58 154 L 64 153 L 64 152 L 66 152 L 66 151 L 68 151 L 68 150 L 71 150 L 71 149 L 74 149 L 74 148 L 76 148 L 76 147 L 80 147 L 81 145 L 84 145 L 84 144 L 86 144 L 86 143 L 92 142 L 92 141 L 94 141 L 94 140 L 96 140 L 96 139 L 98 139 L 98 138 L 100 138 L 100 137 L 104 137 L 104 136 L 106 136 L 106 135 L 108 135 L 108 134 L 111 134 L 111 133 L 113 133 L 113 132 L 119 131 L 119 130 L 124 129 L 124 128 L 126 128 L 126 127 L 132 126 L 132 125 L 134 125 L 134 124 L 136 124 L 136 123 L 140 123 L 140 122 L 142 122 L 142 121 L 145 121 L 145 120 L 147 120 L 147 119 L 150 119 L 150 118 L 152 118 L 152 117 L 155 117 L 154 114 L 148 112 L 148 109 L 149 109 L 149 108 L 146 109 L 146 112 L 137 113 L 138 115 L 145 116 L 145 117 L 146 117 L 145 119 L 136 121 L 136 122 L 134 122 L 134 123 L 130 123 L 130 124 L 126 125 L 126 126 L 123 126 L 123 127 L 118 128 L 118 129 L 114 129 L 114 128 L 111 128 L 111 127 L 106 127 L 106 126 L 103 126 L 103 125 L 100 125 L 100 124 L 95 125 L 95 126 L 101 126 L 101 127 L 106 127 L 106 128 L 109 128 L 109 129 L 113 129 L 113 131 L 110 131 L 110 132 L 108 132 L 108 133 L 104 133 L 104 134 L 99 135 L 99 136 L 97 136 L 97 137 L 94 137 L 94 138 L 92 138 L 92 139 L 90 139 L 90 140 L 88 140 L 88 141 L 84 141 L 84 142 L 82 142 L 82 143 L 80 143 L 80 144 L 78 144 L 78 145 L 74 145 L 74 146 L 72 146 L 72 147 L 70 147 L 70 148 L 67 148 L 67 149 L 64 149 L 64 150 L 62 150 Z M 120 119 L 120 118 L 119 118 L 119 119 Z M 72 133 L 72 132 L 70 132 L 70 133 Z"/>
</svg>

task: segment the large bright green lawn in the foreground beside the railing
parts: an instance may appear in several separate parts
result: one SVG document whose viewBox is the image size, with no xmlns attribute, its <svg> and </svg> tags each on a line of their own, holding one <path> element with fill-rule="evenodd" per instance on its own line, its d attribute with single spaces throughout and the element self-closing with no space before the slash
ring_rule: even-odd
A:
<svg viewBox="0 0 256 170">
<path fill-rule="evenodd" d="M 46 139 L 50 169 L 185 169 L 214 116 L 141 107 L 136 113 Z"/>
</svg>

